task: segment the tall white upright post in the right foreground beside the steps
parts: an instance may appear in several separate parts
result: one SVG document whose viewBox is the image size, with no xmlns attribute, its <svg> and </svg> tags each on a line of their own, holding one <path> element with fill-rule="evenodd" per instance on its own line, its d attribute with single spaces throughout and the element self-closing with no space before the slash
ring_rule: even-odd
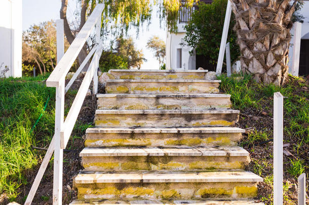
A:
<svg viewBox="0 0 309 205">
<path fill-rule="evenodd" d="M 274 205 L 283 203 L 283 96 L 274 93 Z"/>
</svg>

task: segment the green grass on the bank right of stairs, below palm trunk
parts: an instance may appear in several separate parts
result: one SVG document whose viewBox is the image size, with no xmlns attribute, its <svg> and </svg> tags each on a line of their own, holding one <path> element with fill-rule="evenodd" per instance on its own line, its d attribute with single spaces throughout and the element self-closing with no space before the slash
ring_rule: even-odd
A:
<svg viewBox="0 0 309 205">
<path fill-rule="evenodd" d="M 283 87 L 275 85 L 258 84 L 251 76 L 227 77 L 220 75 L 220 89 L 230 94 L 233 108 L 243 110 L 255 108 L 267 110 L 264 105 L 272 98 L 275 92 L 280 92 L 284 97 L 284 118 L 286 125 L 284 132 L 289 138 L 303 140 L 309 143 L 309 93 L 300 91 L 306 85 L 303 78 L 289 76 L 288 82 Z M 269 113 L 272 114 L 272 113 Z"/>
</svg>

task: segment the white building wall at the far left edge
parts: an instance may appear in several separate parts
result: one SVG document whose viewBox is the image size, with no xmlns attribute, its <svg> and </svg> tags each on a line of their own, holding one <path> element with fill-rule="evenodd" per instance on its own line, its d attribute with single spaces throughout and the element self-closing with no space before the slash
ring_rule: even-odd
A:
<svg viewBox="0 0 309 205">
<path fill-rule="evenodd" d="M 0 65 L 6 76 L 21 77 L 22 0 L 0 0 Z M 0 70 L 1 73 L 1 70 Z"/>
</svg>

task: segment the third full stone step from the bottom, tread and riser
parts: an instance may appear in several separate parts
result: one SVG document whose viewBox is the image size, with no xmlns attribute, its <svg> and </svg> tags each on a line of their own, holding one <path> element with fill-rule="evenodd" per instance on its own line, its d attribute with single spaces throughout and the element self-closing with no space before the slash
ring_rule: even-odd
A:
<svg viewBox="0 0 309 205">
<path fill-rule="evenodd" d="M 205 128 L 88 128 L 86 147 L 170 147 L 237 145 L 245 130 L 233 127 Z"/>
</svg>

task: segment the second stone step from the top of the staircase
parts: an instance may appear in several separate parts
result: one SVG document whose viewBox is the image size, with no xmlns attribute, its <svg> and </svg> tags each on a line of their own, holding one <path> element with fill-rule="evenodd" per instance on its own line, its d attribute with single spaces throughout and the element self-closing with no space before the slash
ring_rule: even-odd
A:
<svg viewBox="0 0 309 205">
<path fill-rule="evenodd" d="M 196 94 L 219 93 L 221 80 L 199 79 L 109 79 L 106 81 L 105 92 L 129 94 Z"/>
</svg>

